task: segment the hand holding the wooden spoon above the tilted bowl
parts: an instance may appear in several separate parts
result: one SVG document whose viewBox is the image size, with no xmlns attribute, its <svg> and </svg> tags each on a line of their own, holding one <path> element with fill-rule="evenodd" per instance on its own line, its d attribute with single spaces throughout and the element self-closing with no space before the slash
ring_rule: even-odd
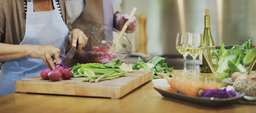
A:
<svg viewBox="0 0 256 113">
<path fill-rule="evenodd" d="M 124 27 L 124 24 L 126 23 L 126 21 L 129 19 L 129 15 L 128 14 L 123 14 L 118 16 L 118 14 L 116 14 L 117 18 L 116 18 L 116 23 L 115 23 L 115 27 L 118 30 L 121 30 Z M 137 20 L 136 17 L 132 17 L 132 19 L 130 21 L 128 21 L 127 23 L 127 29 L 125 32 L 127 33 L 133 33 L 136 29 L 136 24 L 137 24 Z"/>
</svg>

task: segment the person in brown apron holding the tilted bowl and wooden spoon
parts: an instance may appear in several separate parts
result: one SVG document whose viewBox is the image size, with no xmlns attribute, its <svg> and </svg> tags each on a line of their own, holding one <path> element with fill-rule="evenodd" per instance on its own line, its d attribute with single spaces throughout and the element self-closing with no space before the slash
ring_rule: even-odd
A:
<svg viewBox="0 0 256 113">
<path fill-rule="evenodd" d="M 78 2 L 80 1 L 80 2 Z M 81 9 L 77 9 L 74 6 L 79 6 L 84 3 L 84 12 L 77 13 L 80 16 L 74 15 L 74 17 L 79 17 L 73 24 L 73 28 L 81 29 L 86 36 L 90 36 L 92 27 L 95 24 L 106 24 L 108 26 L 113 26 L 120 30 L 123 28 L 124 23 L 129 19 L 128 14 L 121 14 L 116 10 L 121 4 L 122 0 L 67 0 L 68 11 L 71 12 L 81 12 Z M 73 3 L 73 4 L 72 4 Z M 74 5 L 79 3 L 78 5 Z M 80 6 L 81 7 L 81 6 Z M 71 17 L 73 18 L 73 17 Z M 132 33 L 135 31 L 137 20 L 133 17 L 128 22 L 128 27 L 126 29 L 127 33 Z M 82 50 L 76 50 L 75 56 L 69 61 L 68 65 L 73 66 L 77 63 L 106 63 L 106 61 L 100 61 L 99 57 L 103 56 L 102 52 L 94 53 L 92 52 L 91 39 L 88 38 L 88 44 Z"/>
</svg>

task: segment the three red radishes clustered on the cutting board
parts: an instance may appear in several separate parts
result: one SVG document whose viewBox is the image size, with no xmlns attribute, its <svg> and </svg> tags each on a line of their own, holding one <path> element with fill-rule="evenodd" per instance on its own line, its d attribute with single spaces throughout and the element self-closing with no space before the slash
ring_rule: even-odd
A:
<svg viewBox="0 0 256 113">
<path fill-rule="evenodd" d="M 51 79 L 52 81 L 58 81 L 59 79 L 70 79 L 73 77 L 73 71 L 71 69 L 64 69 L 63 67 L 59 66 L 56 67 L 54 70 L 42 70 L 40 76 L 43 79 Z"/>
</svg>

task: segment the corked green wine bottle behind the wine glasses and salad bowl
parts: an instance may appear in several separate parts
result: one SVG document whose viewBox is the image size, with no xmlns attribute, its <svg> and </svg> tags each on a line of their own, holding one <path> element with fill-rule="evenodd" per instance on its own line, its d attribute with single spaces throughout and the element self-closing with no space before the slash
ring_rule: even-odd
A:
<svg viewBox="0 0 256 113">
<path fill-rule="evenodd" d="M 203 46 L 215 45 L 213 42 L 213 37 L 211 36 L 209 9 L 205 9 L 205 29 L 203 31 L 203 40 L 204 40 Z M 200 66 L 201 73 L 212 73 L 202 53 L 199 55 L 199 66 Z"/>
</svg>

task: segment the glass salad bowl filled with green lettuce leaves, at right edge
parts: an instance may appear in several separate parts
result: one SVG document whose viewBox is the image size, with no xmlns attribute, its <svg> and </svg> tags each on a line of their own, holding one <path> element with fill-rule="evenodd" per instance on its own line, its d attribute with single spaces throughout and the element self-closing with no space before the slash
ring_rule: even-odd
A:
<svg viewBox="0 0 256 113">
<path fill-rule="evenodd" d="M 256 61 L 256 46 L 250 49 L 231 49 L 233 46 L 205 46 L 201 47 L 211 71 L 217 81 L 230 78 L 232 73 L 250 74 Z"/>
</svg>

